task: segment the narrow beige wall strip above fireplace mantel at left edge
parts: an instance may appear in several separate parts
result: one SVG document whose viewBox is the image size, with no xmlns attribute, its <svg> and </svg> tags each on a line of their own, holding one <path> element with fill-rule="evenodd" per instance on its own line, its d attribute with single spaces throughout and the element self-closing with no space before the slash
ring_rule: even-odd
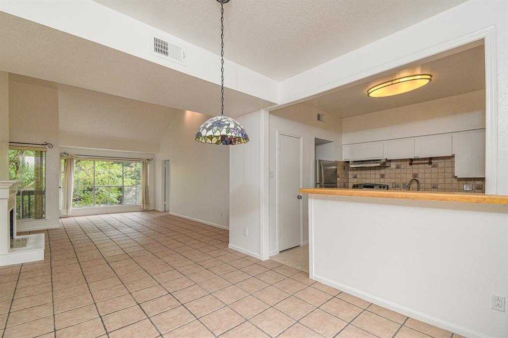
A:
<svg viewBox="0 0 508 338">
<path fill-rule="evenodd" d="M 9 73 L 0 71 L 0 180 L 9 180 Z"/>
</svg>

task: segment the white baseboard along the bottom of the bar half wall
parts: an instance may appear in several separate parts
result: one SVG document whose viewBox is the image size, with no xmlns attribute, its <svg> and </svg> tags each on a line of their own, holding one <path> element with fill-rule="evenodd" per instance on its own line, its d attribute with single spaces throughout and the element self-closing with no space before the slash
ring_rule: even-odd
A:
<svg viewBox="0 0 508 338">
<path fill-rule="evenodd" d="M 418 320 L 420 320 L 422 322 L 425 322 L 427 324 L 431 324 L 431 325 L 440 327 L 440 328 L 442 328 L 444 330 L 447 330 L 447 331 L 450 331 L 450 332 L 454 332 L 454 333 L 460 334 L 460 335 L 465 336 L 465 337 L 471 337 L 471 338 L 482 338 L 482 337 L 483 338 L 493 338 L 493 337 L 485 336 L 485 334 L 482 334 L 482 333 L 479 333 L 479 332 L 475 332 L 475 331 L 471 331 L 471 330 L 468 330 L 468 329 L 466 329 L 464 327 L 456 326 L 456 325 L 453 325 L 451 323 L 441 321 L 441 320 L 439 320 L 437 318 L 427 316 L 427 315 L 425 315 L 425 314 L 423 314 L 421 312 L 405 308 L 403 306 L 400 306 L 398 304 L 392 303 L 392 302 L 387 301 L 385 299 L 381 299 L 381 298 L 378 298 L 378 297 L 373 296 L 371 294 L 365 293 L 363 291 L 350 288 L 350 287 L 348 287 L 346 285 L 343 285 L 343 284 L 340 284 L 340 283 L 335 283 L 334 281 L 331 281 L 331 280 L 329 280 L 328 278 L 325 278 L 325 277 L 317 276 L 317 275 L 314 274 L 314 275 L 312 275 L 312 279 L 315 280 L 315 281 L 321 282 L 323 284 L 326 284 L 328 286 L 334 287 L 336 289 L 339 289 L 341 291 L 344 291 L 344 292 L 347 292 L 347 293 L 351 293 L 354 296 L 357 296 L 357 297 L 360 297 L 362 299 L 368 300 L 371 303 L 374 303 L 375 305 L 378 305 L 378 306 L 387 308 L 389 310 L 401 313 L 401 314 L 406 315 L 408 317 L 412 317 L 412 318 L 418 319 Z"/>
</svg>

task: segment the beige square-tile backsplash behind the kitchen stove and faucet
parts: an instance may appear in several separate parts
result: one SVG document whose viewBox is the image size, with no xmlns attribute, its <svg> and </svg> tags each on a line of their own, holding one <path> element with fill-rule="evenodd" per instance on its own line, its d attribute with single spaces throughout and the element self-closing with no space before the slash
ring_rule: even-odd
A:
<svg viewBox="0 0 508 338">
<path fill-rule="evenodd" d="M 425 159 L 414 159 L 420 162 Z M 337 186 L 351 188 L 355 183 L 388 184 L 390 190 L 406 190 L 410 179 L 420 181 L 421 191 L 469 192 L 464 184 L 471 184 L 470 192 L 485 192 L 485 178 L 454 177 L 454 156 L 433 157 L 432 165 L 409 165 L 409 159 L 390 160 L 389 167 L 350 168 L 345 162 L 337 162 Z M 411 190 L 416 190 L 416 182 Z"/>
</svg>

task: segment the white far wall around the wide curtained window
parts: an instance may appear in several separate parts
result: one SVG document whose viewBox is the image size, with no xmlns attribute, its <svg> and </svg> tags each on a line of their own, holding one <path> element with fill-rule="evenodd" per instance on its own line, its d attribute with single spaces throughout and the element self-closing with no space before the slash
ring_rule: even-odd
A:
<svg viewBox="0 0 508 338">
<path fill-rule="evenodd" d="M 103 147 L 108 147 L 109 144 L 103 144 Z M 114 151 L 114 150 L 99 150 L 94 148 L 76 148 L 60 146 L 60 152 L 67 152 L 69 154 L 80 154 L 80 155 L 94 155 L 94 156 L 115 156 L 115 157 L 132 157 L 132 158 L 153 158 L 153 153 L 146 152 L 127 152 L 127 151 Z M 61 161 L 60 161 L 61 165 Z M 60 166 L 61 170 L 61 166 Z M 149 202 L 150 206 L 148 209 L 153 209 L 155 205 L 155 173 L 153 162 L 148 165 L 148 190 L 149 190 Z M 61 193 L 61 192 L 59 192 Z M 95 208 L 74 208 L 71 210 L 71 216 L 86 216 L 86 215 L 97 215 L 107 213 L 122 213 L 131 211 L 141 211 L 140 205 L 126 205 L 126 206 L 111 206 L 111 207 L 95 207 Z M 66 216 L 61 216 L 66 217 Z"/>
</svg>

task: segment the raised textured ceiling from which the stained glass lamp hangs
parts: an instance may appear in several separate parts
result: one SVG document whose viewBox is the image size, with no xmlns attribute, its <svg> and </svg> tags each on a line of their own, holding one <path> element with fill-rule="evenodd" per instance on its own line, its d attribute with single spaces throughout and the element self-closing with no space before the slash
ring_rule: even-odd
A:
<svg viewBox="0 0 508 338">
<path fill-rule="evenodd" d="M 215 0 L 96 0 L 219 54 Z M 464 0 L 231 0 L 225 57 L 284 80 L 463 3 Z"/>
</svg>

